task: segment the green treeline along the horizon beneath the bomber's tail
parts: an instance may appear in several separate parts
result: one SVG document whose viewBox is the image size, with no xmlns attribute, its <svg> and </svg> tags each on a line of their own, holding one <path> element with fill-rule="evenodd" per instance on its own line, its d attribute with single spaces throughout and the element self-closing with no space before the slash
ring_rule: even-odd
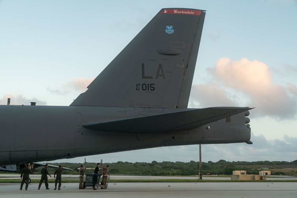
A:
<svg viewBox="0 0 297 198">
<path fill-rule="evenodd" d="M 50 163 L 51 165 L 62 165 L 63 167 L 71 168 L 73 170 L 65 170 L 63 174 L 78 174 L 80 163 Z M 199 175 L 199 162 L 113 162 L 104 163 L 109 165 L 110 174 L 133 174 L 133 175 L 159 175 L 159 176 L 174 176 L 174 175 Z M 93 173 L 97 163 L 87 162 L 87 173 Z M 285 168 L 297 168 L 297 160 L 293 162 L 285 161 L 257 161 L 257 162 L 228 162 L 223 159 L 218 162 L 208 161 L 202 162 L 202 175 L 232 175 L 233 170 L 246 170 L 247 174 L 259 174 L 262 168 L 269 168 L 271 175 L 288 175 Z M 39 167 L 38 169 L 41 169 Z M 49 168 L 50 174 L 53 174 L 55 169 Z M 40 171 L 35 173 L 40 174 Z M 297 175 L 297 171 L 291 171 L 290 175 Z"/>
</svg>

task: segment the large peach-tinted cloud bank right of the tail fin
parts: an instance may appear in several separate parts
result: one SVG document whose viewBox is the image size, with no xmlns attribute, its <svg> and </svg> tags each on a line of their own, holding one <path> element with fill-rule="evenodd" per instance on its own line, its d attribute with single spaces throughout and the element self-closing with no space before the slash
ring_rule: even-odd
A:
<svg viewBox="0 0 297 198">
<path fill-rule="evenodd" d="M 228 106 L 234 103 L 236 106 L 257 107 L 253 110 L 257 116 L 295 119 L 296 85 L 274 84 L 265 63 L 246 58 L 237 61 L 221 58 L 214 68 L 208 68 L 207 71 L 212 79 L 205 85 L 192 85 L 191 100 L 209 106 L 218 106 L 217 103 Z"/>
</svg>

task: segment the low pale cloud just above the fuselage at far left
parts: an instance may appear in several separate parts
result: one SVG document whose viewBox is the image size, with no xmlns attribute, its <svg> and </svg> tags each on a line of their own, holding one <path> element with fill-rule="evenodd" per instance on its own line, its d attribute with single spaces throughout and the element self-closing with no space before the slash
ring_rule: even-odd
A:
<svg viewBox="0 0 297 198">
<path fill-rule="evenodd" d="M 10 98 L 10 105 L 31 105 L 30 102 L 36 102 L 38 105 L 47 105 L 46 101 L 38 100 L 37 98 L 27 99 L 23 95 L 6 94 L 1 98 L 0 104 L 7 104 L 7 98 Z"/>
</svg>

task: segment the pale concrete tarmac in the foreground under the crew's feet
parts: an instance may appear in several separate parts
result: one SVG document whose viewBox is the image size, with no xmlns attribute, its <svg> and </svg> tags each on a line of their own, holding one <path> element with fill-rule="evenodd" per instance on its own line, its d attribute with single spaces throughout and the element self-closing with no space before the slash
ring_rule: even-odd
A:
<svg viewBox="0 0 297 198">
<path fill-rule="evenodd" d="M 63 182 L 63 180 L 62 180 Z M 108 189 L 97 190 L 87 187 L 78 189 L 78 183 L 62 183 L 61 190 L 54 190 L 49 183 L 49 190 L 43 183 L 38 190 L 38 183 L 31 183 L 27 191 L 20 190 L 20 183 L 0 183 L 0 197 L 123 197 L 123 198 L 279 198 L 297 197 L 296 182 L 211 182 L 211 183 L 109 183 Z"/>
</svg>

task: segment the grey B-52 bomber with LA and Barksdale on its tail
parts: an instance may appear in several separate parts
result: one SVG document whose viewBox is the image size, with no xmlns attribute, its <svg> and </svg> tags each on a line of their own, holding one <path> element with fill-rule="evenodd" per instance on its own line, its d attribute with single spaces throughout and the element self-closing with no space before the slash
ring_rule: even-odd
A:
<svg viewBox="0 0 297 198">
<path fill-rule="evenodd" d="M 162 146 L 251 144 L 251 108 L 187 108 L 205 13 L 161 9 L 70 106 L 1 105 L 0 166 Z"/>
</svg>

